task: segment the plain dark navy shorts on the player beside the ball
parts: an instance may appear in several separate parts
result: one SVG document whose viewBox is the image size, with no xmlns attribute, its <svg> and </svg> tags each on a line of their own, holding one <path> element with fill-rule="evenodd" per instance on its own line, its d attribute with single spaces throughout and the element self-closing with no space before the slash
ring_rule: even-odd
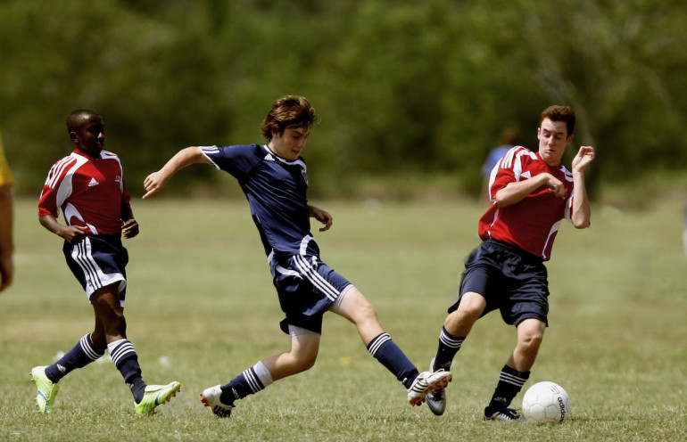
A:
<svg viewBox="0 0 687 442">
<path fill-rule="evenodd" d="M 474 291 L 484 296 L 482 316 L 501 310 L 509 324 L 536 318 L 549 324 L 549 282 L 543 260 L 502 241 L 486 240 L 468 255 L 461 275 L 458 302 L 463 294 Z"/>
</svg>

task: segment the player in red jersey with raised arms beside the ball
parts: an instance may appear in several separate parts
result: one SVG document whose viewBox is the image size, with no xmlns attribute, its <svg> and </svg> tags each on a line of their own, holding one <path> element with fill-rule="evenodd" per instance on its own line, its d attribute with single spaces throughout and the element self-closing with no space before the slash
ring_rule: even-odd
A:
<svg viewBox="0 0 687 442">
<path fill-rule="evenodd" d="M 479 247 L 466 258 L 458 302 L 439 335 L 439 348 L 430 370 L 451 369 L 476 320 L 499 309 L 506 323 L 517 328 L 517 345 L 501 369 L 496 389 L 484 409 L 485 420 L 518 421 L 509 405 L 530 375 L 548 325 L 549 282 L 544 261 L 565 218 L 578 229 L 590 225 L 584 171 L 594 158 L 582 146 L 572 173 L 561 164 L 573 142 L 575 113 L 565 106 L 542 111 L 537 129 L 539 151 L 511 148 L 492 169 L 489 198 L 492 206 L 479 220 Z M 446 408 L 438 389 L 426 397 L 436 415 Z"/>
</svg>

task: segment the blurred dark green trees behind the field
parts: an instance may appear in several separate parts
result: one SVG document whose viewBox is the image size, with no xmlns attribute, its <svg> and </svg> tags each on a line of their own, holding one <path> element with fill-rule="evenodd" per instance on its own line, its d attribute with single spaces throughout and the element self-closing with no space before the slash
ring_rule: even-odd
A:
<svg viewBox="0 0 687 442">
<path fill-rule="evenodd" d="M 303 94 L 321 118 L 312 191 L 449 176 L 476 193 L 501 129 L 536 149 L 539 112 L 560 103 L 575 147 L 598 149 L 594 190 L 684 168 L 685 22 L 687 5 L 658 0 L 5 0 L 0 130 L 37 194 L 70 151 L 67 114 L 94 109 L 137 194 L 186 145 L 260 143 L 271 102 Z"/>
</svg>

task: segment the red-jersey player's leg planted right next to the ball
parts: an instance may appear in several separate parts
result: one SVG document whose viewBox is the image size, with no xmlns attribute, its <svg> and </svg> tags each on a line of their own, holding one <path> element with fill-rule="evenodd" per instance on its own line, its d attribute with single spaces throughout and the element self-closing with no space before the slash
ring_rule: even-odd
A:
<svg viewBox="0 0 687 442">
<path fill-rule="evenodd" d="M 516 348 L 501 369 L 492 400 L 484 409 L 485 419 L 519 420 L 517 414 L 508 407 L 530 377 L 544 330 L 546 323 L 536 318 L 528 318 L 517 324 Z"/>
</svg>

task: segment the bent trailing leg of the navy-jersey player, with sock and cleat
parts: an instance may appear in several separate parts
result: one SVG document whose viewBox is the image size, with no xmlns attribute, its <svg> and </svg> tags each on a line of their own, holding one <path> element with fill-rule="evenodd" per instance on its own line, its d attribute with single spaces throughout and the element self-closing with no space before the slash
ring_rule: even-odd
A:
<svg viewBox="0 0 687 442">
<path fill-rule="evenodd" d="M 203 404 L 219 417 L 228 417 L 236 400 L 258 393 L 274 381 L 309 370 L 318 357 L 321 335 L 293 325 L 289 326 L 289 334 L 288 352 L 261 360 L 225 385 L 204 389 Z"/>
</svg>

